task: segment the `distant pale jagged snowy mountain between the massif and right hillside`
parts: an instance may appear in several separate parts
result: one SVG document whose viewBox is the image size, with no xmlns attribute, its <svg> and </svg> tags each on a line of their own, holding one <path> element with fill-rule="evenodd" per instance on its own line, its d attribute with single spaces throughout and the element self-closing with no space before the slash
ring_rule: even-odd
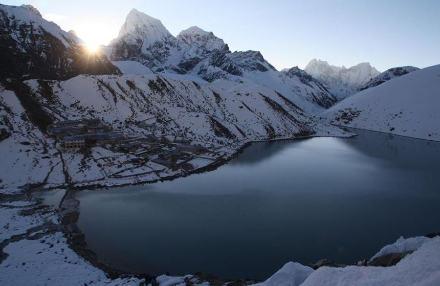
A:
<svg viewBox="0 0 440 286">
<path fill-rule="evenodd" d="M 358 88 L 379 74 L 369 63 L 346 68 L 331 66 L 326 61 L 316 59 L 311 60 L 304 70 L 319 80 L 338 100 L 355 93 Z"/>
</svg>

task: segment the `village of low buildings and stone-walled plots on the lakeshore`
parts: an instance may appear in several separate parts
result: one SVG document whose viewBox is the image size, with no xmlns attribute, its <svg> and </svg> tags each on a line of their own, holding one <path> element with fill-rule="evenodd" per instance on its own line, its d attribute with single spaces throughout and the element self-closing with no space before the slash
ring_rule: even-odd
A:
<svg viewBox="0 0 440 286">
<path fill-rule="evenodd" d="M 139 127 L 153 131 L 155 124 L 140 123 Z M 89 150 L 95 146 L 105 147 L 113 152 L 130 154 L 129 163 L 144 165 L 153 162 L 172 170 L 182 168 L 191 171 L 194 166 L 187 164 L 196 156 L 208 153 L 191 139 L 164 136 L 156 137 L 154 132 L 140 137 L 128 137 L 122 132 L 113 131 L 110 124 L 99 119 L 77 119 L 59 121 L 48 128 L 48 134 L 66 152 Z M 213 158 L 205 155 L 205 158 Z"/>
</svg>

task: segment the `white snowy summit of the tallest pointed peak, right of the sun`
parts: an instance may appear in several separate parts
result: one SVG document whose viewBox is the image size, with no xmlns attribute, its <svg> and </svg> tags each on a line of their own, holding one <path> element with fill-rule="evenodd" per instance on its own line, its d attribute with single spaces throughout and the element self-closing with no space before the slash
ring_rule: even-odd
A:
<svg viewBox="0 0 440 286">
<path fill-rule="evenodd" d="M 118 38 L 124 37 L 127 34 L 142 37 L 150 44 L 174 38 L 160 20 L 154 19 L 136 9 L 132 9 L 127 15 L 125 23 L 119 30 Z"/>
</svg>

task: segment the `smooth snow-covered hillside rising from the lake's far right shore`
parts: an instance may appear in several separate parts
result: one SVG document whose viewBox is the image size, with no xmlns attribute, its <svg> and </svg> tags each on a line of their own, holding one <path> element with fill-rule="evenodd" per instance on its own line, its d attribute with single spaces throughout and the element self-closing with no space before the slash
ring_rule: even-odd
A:
<svg viewBox="0 0 440 286">
<path fill-rule="evenodd" d="M 331 123 L 440 141 L 440 65 L 353 94 L 326 110 Z"/>
</svg>

